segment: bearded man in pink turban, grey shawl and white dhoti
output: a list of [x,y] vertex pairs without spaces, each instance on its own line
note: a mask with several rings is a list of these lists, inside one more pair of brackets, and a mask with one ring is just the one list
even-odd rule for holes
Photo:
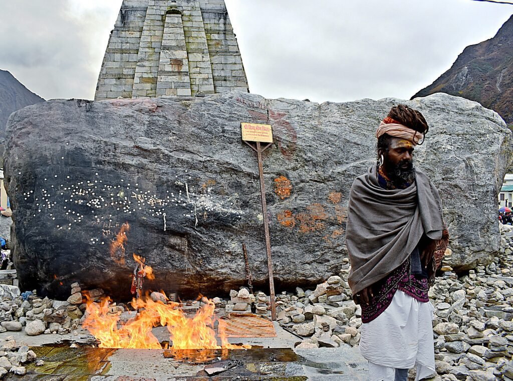
[[351,186],[349,285],[362,308],[360,351],[372,381],[406,381],[413,367],[416,380],[435,373],[427,292],[448,234],[437,188],[412,162],[428,130],[419,111],[392,107],[376,132],[378,163]]

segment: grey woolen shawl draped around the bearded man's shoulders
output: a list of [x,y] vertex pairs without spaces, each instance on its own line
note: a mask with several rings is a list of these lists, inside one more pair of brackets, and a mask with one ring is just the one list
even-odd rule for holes
[[443,229],[442,202],[426,175],[417,170],[408,188],[387,190],[371,166],[354,180],[349,196],[346,245],[353,295],[397,269],[424,233],[438,240]]

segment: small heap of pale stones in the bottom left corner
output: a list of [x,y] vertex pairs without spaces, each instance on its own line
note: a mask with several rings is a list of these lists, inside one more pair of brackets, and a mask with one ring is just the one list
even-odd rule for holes
[[0,378],[9,372],[23,376],[27,373],[24,365],[34,361],[36,366],[45,364],[43,360],[37,360],[36,354],[29,347],[16,344],[13,336],[6,337],[0,349]]

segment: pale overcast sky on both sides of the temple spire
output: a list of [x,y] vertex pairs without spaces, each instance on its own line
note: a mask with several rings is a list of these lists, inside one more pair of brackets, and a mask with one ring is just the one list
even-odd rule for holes
[[[93,99],[122,0],[0,0],[0,69],[45,99]],[[226,0],[250,91],[409,99],[513,6],[471,0]]]

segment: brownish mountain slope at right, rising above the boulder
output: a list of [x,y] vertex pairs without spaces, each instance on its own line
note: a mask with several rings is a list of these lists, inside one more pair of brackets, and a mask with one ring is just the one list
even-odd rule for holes
[[467,46],[449,70],[411,99],[435,92],[479,102],[512,126],[513,15],[493,38]]

